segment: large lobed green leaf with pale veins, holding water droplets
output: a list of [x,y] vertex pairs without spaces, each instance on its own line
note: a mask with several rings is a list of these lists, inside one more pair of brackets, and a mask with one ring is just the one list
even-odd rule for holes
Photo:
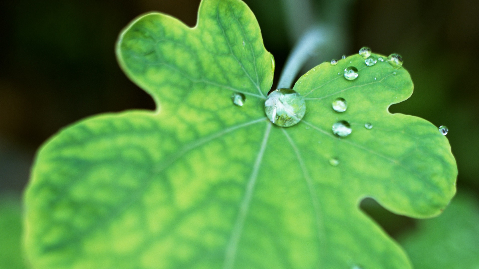
[[[365,67],[357,55],[321,64],[295,86],[304,120],[270,123],[274,60],[240,0],[203,0],[192,29],[143,15],[117,56],[158,109],[80,121],[40,149],[25,196],[34,268],[404,269],[404,252],[359,201],[428,217],[455,193],[447,139],[387,111],[412,93],[403,68]],[[337,75],[348,65],[359,78]],[[346,112],[331,109],[337,97]],[[353,133],[335,137],[337,120]]]

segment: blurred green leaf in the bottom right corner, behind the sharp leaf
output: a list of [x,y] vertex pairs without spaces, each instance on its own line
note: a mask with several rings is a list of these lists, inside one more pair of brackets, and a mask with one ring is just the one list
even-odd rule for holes
[[442,215],[419,221],[399,242],[415,269],[478,269],[479,202],[458,195]]

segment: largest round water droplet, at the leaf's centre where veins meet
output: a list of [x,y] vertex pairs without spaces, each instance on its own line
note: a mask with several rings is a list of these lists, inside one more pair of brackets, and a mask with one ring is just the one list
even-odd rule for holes
[[291,89],[278,89],[268,95],[264,102],[268,119],[281,127],[299,123],[306,112],[306,103],[301,94]]

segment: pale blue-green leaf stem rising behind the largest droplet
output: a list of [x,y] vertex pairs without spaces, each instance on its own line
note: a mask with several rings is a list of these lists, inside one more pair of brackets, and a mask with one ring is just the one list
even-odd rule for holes
[[297,42],[285,63],[278,82],[278,89],[291,88],[293,80],[319,46],[327,41],[325,29],[320,26],[310,28]]

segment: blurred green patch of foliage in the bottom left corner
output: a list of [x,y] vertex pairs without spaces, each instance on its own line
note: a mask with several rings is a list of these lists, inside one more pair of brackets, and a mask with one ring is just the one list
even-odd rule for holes
[[22,256],[20,197],[0,193],[0,269],[26,268]]

